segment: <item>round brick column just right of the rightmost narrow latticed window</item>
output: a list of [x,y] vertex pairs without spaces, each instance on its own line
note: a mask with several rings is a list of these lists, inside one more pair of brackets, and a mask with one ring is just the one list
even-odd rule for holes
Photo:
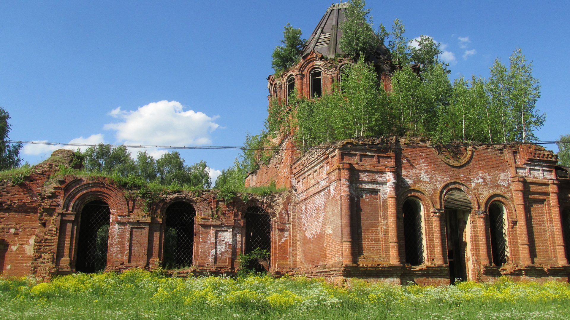
[[519,239],[519,264],[520,265],[531,265],[531,252],[530,243],[528,241],[528,229],[527,229],[527,214],[524,211],[524,178],[523,177],[511,177],[511,190],[512,196],[515,204],[516,218],[518,220],[516,224],[516,234]]

